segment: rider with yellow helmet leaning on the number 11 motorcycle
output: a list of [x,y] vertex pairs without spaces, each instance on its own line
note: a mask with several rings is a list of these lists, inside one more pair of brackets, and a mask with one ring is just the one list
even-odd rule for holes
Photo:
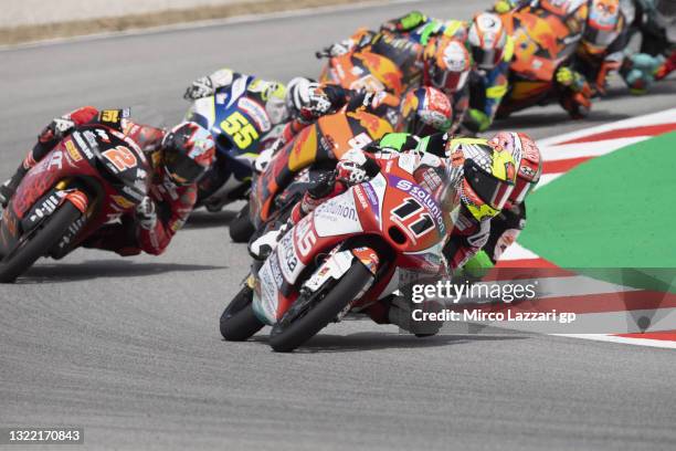
[[[367,153],[349,151],[335,172],[305,195],[289,222],[251,243],[252,256],[264,259],[276,247],[277,239],[317,206],[374,177],[391,162],[388,155],[392,151],[403,154],[400,165],[405,161],[406,170],[425,190],[447,189],[447,202],[457,208],[452,213],[454,229],[447,231],[440,258],[446,262],[447,275],[461,268],[487,242],[492,218],[500,212],[515,187],[516,169],[511,155],[495,141],[448,134],[422,139],[410,134],[390,134]],[[442,186],[444,179],[450,180],[450,186]],[[402,276],[399,282],[411,281]],[[402,296],[388,294],[367,313],[379,324],[397,324],[412,331],[414,325],[406,315],[408,307]]]

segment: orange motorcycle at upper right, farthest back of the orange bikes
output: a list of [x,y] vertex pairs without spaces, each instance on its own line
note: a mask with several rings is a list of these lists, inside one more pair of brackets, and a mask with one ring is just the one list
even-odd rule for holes
[[[559,98],[557,70],[573,56],[581,34],[571,36],[568,27],[558,18],[542,18],[528,10],[501,14],[501,20],[515,41],[509,91],[497,112],[498,118],[506,118],[511,113]],[[574,97],[579,105],[589,104],[591,88],[574,94]]]

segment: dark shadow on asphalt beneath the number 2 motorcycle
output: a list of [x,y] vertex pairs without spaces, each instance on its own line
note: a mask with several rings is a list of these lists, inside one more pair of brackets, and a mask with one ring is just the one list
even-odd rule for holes
[[93,279],[144,277],[171,272],[194,272],[223,270],[226,266],[180,263],[137,263],[130,260],[88,260],[74,264],[41,264],[33,266],[24,277],[17,281],[21,284],[63,283]]

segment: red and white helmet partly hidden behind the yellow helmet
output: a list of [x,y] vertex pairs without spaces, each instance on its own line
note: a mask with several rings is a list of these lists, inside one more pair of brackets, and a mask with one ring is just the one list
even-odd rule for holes
[[514,158],[517,177],[509,203],[519,204],[538,185],[542,175],[542,155],[535,140],[525,133],[500,132],[490,139],[493,146],[500,146]]

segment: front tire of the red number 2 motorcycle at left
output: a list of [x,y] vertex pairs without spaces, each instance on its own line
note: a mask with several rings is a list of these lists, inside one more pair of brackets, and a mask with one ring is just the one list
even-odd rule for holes
[[0,283],[13,283],[45,255],[81,216],[82,212],[73,203],[63,202],[19,250],[0,261]]

